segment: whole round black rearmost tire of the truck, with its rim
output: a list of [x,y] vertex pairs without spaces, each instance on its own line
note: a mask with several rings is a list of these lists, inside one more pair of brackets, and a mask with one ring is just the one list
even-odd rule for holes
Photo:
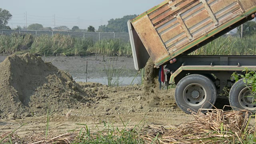
[[191,114],[188,108],[194,112],[198,112],[200,108],[212,108],[216,98],[216,86],[212,80],[200,74],[185,76],[175,89],[176,104],[187,114]]

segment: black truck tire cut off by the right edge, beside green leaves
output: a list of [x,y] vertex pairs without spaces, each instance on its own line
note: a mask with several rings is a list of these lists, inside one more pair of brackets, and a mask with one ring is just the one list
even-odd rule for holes
[[243,82],[244,79],[238,80],[230,89],[229,103],[234,110],[250,110],[255,112],[256,104],[252,103],[253,96],[251,96],[250,89]]

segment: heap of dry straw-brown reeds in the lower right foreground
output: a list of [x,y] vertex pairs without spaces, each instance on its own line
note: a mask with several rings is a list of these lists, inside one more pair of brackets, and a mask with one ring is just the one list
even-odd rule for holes
[[[147,143],[160,144],[226,144],[248,142],[251,139],[250,136],[254,136],[255,128],[249,123],[251,113],[247,110],[224,112],[212,109],[207,111],[205,115],[200,112],[192,114],[194,121],[175,128],[149,127],[155,132],[148,132],[143,138]],[[158,133],[161,134],[161,138],[156,140]]]

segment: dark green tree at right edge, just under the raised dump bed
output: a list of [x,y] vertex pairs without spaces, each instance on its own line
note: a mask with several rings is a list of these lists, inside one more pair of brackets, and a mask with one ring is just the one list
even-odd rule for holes
[[[238,26],[237,34],[241,34],[242,26]],[[251,36],[256,34],[256,22],[248,21],[243,24],[243,36]]]

